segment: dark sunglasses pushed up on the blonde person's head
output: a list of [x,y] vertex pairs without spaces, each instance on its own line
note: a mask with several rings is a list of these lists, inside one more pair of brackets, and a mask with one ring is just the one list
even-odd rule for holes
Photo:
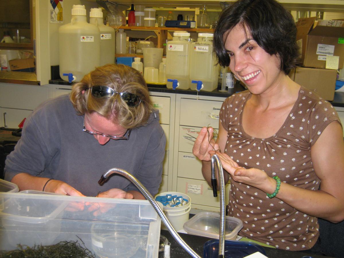
[[92,96],[96,98],[112,97],[115,94],[119,94],[121,99],[127,103],[129,107],[137,107],[141,103],[140,97],[136,94],[129,92],[115,92],[115,90],[107,86],[96,85],[87,89],[91,89]]

